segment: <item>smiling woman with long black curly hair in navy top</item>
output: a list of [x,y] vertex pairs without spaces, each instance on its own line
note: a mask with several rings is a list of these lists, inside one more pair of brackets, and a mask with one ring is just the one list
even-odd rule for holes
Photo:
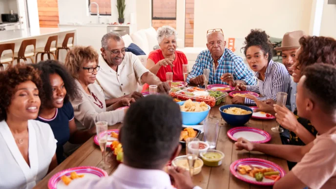
[[65,159],[63,145],[66,142],[82,144],[96,133],[95,128],[77,130],[71,100],[80,99],[77,85],[66,68],[53,60],[41,61],[34,65],[41,70],[44,97],[36,120],[50,125],[57,142],[58,164]]

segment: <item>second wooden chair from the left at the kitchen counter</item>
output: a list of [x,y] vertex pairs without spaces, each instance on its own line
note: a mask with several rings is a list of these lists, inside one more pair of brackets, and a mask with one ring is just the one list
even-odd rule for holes
[[[33,45],[34,46],[34,51],[28,51],[26,52],[26,47],[29,45]],[[29,58],[32,63],[34,62],[34,56],[35,56],[35,48],[36,48],[36,39],[30,39],[30,40],[23,40],[21,42],[21,46],[19,49],[19,52],[15,52],[14,53],[14,60],[17,60],[17,63],[20,63],[20,60],[23,59],[24,63],[27,62],[27,58]],[[6,57],[11,57],[12,54],[5,54]]]

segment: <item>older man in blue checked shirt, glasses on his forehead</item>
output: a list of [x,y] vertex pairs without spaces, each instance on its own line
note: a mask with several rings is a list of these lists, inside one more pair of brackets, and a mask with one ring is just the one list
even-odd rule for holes
[[229,84],[231,86],[235,86],[237,83],[256,84],[252,71],[249,70],[243,59],[230,49],[225,48],[225,45],[222,29],[208,30],[208,50],[204,50],[198,55],[187,78],[189,84],[204,85],[203,70],[206,68],[210,69],[208,84]]

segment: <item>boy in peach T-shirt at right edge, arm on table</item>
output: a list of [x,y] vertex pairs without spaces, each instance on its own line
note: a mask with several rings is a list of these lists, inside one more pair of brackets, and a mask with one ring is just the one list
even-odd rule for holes
[[[238,150],[260,151],[298,162],[273,189],[332,189],[336,186],[336,66],[316,63],[304,70],[297,85],[296,104],[300,117],[318,131],[306,146],[254,144],[239,138]],[[276,105],[275,105],[276,107]]]

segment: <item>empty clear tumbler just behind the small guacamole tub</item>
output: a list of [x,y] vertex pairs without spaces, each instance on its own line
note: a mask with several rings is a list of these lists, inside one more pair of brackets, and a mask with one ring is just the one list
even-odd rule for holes
[[206,119],[203,122],[204,140],[208,143],[210,149],[216,148],[219,131],[218,123],[218,120],[211,118]]

